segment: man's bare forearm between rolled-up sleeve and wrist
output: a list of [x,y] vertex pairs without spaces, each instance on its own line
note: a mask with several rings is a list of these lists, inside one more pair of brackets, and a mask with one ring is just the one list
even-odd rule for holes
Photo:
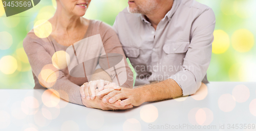
[[182,96],[180,86],[173,79],[144,85],[135,90],[141,94],[143,102],[161,101]]

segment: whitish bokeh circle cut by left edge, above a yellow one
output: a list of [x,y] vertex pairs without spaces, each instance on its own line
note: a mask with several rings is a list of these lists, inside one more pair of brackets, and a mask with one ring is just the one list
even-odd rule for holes
[[12,35],[6,31],[0,32],[0,50],[7,50],[12,46]]

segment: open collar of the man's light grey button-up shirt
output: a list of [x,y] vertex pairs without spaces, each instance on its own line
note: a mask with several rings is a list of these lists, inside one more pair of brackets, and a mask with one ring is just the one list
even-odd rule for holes
[[[167,17],[167,18],[168,18],[168,21],[170,21],[170,19],[172,18],[172,16],[173,16],[174,13],[176,12],[177,8],[179,7],[180,3],[181,3],[181,0],[174,0],[174,4],[173,4],[172,9],[170,9],[170,11],[168,11],[168,12],[166,13],[166,15],[164,16],[163,19],[165,19],[165,18]],[[144,23],[150,23],[150,22],[148,22],[148,21],[146,20],[145,15],[140,14],[140,18],[141,18],[141,20],[142,20]]]

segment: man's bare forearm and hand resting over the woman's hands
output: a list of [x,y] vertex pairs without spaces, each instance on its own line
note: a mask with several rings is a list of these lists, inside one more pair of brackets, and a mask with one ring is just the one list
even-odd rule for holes
[[107,104],[111,103],[111,105],[115,106],[113,103],[122,100],[120,101],[121,107],[127,104],[139,106],[143,102],[161,101],[180,96],[182,96],[180,86],[175,80],[167,79],[159,83],[143,85],[136,89],[122,88],[120,91],[113,90],[108,95],[105,95],[102,101]]

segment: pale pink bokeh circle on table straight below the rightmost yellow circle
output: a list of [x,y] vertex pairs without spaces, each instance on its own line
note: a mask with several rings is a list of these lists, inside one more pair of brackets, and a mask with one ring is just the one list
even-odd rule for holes
[[237,102],[241,103],[248,100],[250,97],[250,91],[244,84],[239,84],[234,87],[232,95]]

